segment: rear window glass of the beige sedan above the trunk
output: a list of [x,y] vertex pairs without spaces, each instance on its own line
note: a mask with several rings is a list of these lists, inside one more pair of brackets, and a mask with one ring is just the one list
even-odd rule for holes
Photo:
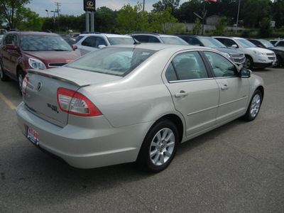
[[102,48],[70,62],[67,67],[125,76],[155,52],[138,48]]

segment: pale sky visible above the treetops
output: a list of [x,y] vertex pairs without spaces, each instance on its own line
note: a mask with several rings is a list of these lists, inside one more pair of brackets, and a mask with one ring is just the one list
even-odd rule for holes
[[[153,9],[152,5],[158,1],[159,0],[145,0],[145,10],[150,12]],[[181,0],[180,4],[185,1],[186,0]],[[84,0],[30,0],[30,2],[31,3],[27,4],[26,7],[30,8],[31,11],[38,13],[40,17],[47,17],[48,15],[53,16],[53,12],[50,11],[55,11],[55,9],[57,9],[55,2],[61,4],[61,6],[59,6],[60,14],[80,16],[85,13],[83,9]],[[109,9],[119,10],[124,4],[135,6],[137,2],[143,4],[143,0],[96,0],[96,8],[107,6]],[[48,10],[48,12],[45,10]]]

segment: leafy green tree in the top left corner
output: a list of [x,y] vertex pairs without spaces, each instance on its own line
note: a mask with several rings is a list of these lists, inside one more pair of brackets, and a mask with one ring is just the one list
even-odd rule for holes
[[22,22],[34,16],[24,7],[28,3],[29,0],[0,0],[1,21],[8,23],[10,28],[21,26]]

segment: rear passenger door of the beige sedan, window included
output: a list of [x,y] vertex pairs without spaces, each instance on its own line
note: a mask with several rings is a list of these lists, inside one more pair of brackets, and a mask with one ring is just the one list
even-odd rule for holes
[[199,133],[216,123],[219,87],[207,72],[198,51],[175,55],[165,72],[175,109],[185,119],[186,136]]

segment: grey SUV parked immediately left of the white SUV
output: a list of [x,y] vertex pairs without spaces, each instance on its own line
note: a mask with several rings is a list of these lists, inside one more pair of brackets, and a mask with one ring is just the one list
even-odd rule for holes
[[220,52],[224,53],[227,58],[231,59],[237,65],[239,65],[239,67],[243,67],[244,62],[246,61],[244,53],[238,50],[227,48],[224,44],[222,44],[215,38],[201,35],[178,35],[178,37],[182,38],[190,45],[203,46],[219,50]]

